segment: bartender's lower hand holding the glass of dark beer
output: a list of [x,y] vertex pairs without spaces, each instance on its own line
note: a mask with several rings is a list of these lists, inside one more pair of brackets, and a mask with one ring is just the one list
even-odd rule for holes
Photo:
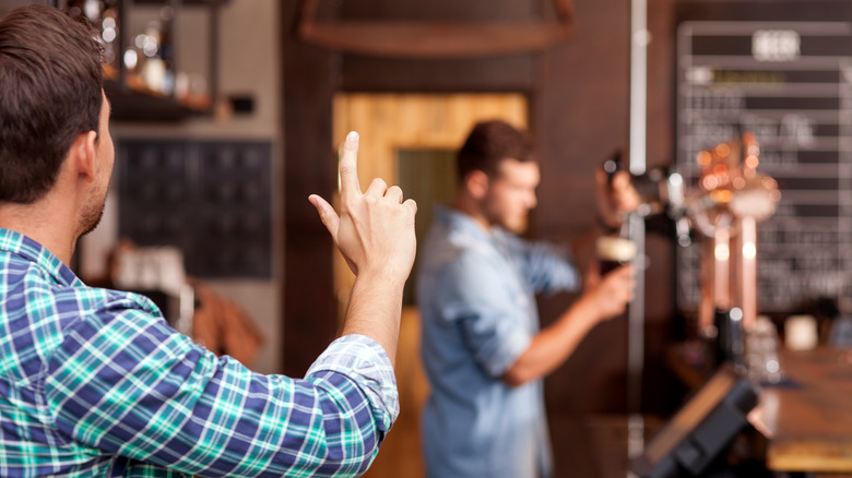
[[599,320],[620,315],[634,299],[632,265],[623,265],[601,277],[596,272],[587,274],[587,283],[580,301],[596,312]]

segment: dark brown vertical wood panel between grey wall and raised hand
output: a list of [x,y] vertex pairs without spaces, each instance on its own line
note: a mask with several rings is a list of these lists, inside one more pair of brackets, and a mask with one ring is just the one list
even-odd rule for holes
[[[336,158],[331,144],[334,55],[301,44],[292,27],[297,2],[281,4],[284,105],[284,373],[303,377],[334,338],[332,241],[308,202],[331,198]],[[289,28],[288,28],[289,26]]]

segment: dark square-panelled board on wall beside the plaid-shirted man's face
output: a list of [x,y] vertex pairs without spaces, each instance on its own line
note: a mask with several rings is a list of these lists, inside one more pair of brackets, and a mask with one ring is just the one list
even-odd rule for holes
[[118,158],[120,237],[176,246],[197,277],[271,277],[269,142],[126,140]]

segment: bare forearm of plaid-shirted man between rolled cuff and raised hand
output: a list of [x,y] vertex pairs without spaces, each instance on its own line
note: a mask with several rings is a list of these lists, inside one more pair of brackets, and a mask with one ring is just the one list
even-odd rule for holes
[[372,338],[384,348],[391,363],[395,365],[405,282],[391,277],[370,271],[358,275],[352,287],[342,334],[360,334]]

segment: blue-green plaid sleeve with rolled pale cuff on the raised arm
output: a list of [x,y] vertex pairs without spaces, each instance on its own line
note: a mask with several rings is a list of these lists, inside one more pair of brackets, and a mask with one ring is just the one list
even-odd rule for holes
[[210,477],[357,476],[398,414],[378,344],[343,337],[305,380],[253,373],[114,303],[48,360],[56,427],[106,453]]

